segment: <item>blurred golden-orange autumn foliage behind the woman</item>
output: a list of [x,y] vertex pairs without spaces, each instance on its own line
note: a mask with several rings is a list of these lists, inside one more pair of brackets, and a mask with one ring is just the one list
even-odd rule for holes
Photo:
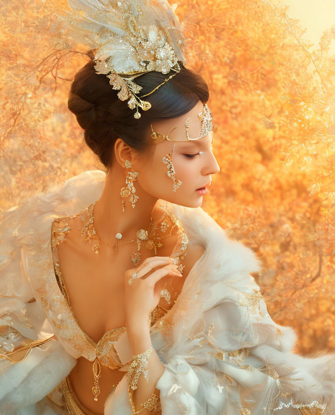
[[[54,33],[65,3],[1,6],[1,211],[102,168],[67,109],[89,58]],[[177,4],[221,169],[202,208],[261,258],[254,276],[271,317],[297,331],[296,352],[335,350],[335,26],[312,45],[283,3]]]

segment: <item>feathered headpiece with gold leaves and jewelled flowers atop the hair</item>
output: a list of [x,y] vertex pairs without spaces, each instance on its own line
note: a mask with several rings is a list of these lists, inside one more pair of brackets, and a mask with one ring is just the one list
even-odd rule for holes
[[67,0],[71,11],[57,13],[73,37],[91,47],[98,74],[110,79],[113,89],[120,89],[118,97],[129,100],[136,107],[135,118],[140,118],[151,103],[143,101],[142,90],[134,79],[146,72],[167,74],[174,71],[161,85],[180,72],[178,61],[185,64],[181,52],[184,42],[179,20],[167,0]]

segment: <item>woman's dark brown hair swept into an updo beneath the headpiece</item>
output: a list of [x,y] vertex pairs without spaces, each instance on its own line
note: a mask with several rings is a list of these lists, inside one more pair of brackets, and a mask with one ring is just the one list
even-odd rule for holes
[[[145,152],[153,144],[150,137],[150,123],[153,119],[185,114],[199,100],[205,104],[209,98],[204,79],[179,62],[179,73],[155,92],[142,98],[149,101],[152,107],[147,111],[139,107],[141,118],[136,119],[136,108],[132,110],[128,107],[129,99],[122,101],[118,97],[120,90],[113,89],[107,75],[96,73],[95,64],[91,60],[75,74],[68,108],[85,130],[86,144],[107,169],[112,165],[114,144],[118,137],[138,152]],[[172,73],[174,71],[167,74],[151,71],[135,78],[134,81],[143,88],[137,95],[151,92]]]

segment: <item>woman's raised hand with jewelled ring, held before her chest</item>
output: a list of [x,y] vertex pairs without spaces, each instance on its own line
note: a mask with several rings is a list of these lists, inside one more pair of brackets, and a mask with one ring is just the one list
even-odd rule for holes
[[[132,276],[135,272],[137,276],[134,279]],[[150,327],[150,313],[158,305],[163,287],[157,283],[167,275],[182,276],[169,256],[146,258],[137,268],[128,269],[125,272],[127,329],[139,328],[141,330],[144,324]],[[131,280],[132,285],[129,283]]]

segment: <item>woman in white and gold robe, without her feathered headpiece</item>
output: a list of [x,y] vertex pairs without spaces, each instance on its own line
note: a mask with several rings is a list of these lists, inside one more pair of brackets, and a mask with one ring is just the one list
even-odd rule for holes
[[147,71],[145,108],[95,63],[68,106],[105,171],[1,223],[0,413],[333,414],[334,356],[291,352],[258,258],[201,209],[219,172],[204,80]]

